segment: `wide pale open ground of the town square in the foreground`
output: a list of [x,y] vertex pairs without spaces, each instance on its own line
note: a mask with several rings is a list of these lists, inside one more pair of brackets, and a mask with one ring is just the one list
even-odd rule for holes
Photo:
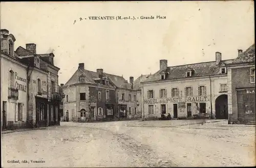
[[255,165],[255,126],[216,121],[62,122],[2,134],[2,167]]

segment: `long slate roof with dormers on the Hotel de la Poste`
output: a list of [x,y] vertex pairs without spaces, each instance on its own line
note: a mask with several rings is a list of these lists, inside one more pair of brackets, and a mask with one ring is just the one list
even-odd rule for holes
[[[195,70],[195,74],[192,77],[217,75],[217,74],[220,74],[220,66],[223,63],[229,64],[231,62],[232,60],[223,60],[220,62],[219,65],[216,65],[216,61],[212,61],[212,62],[167,67],[166,72],[168,73],[168,75],[166,76],[166,79],[186,78],[187,69]],[[158,80],[160,80],[160,70],[157,71],[155,74],[151,75],[150,77],[148,77],[145,80],[145,82],[158,81]]]

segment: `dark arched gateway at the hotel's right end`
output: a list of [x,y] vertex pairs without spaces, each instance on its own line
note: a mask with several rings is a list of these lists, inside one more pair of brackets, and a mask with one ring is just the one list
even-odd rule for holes
[[215,100],[216,119],[228,119],[227,95],[220,95]]

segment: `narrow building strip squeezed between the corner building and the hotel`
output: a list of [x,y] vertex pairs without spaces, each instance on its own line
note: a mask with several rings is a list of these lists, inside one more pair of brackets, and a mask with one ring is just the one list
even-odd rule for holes
[[134,90],[137,91],[137,113],[140,116],[139,118],[142,118],[142,97],[141,97],[141,89],[142,85],[141,82],[145,81],[151,74],[148,75],[142,75],[139,76],[135,81],[134,81]]

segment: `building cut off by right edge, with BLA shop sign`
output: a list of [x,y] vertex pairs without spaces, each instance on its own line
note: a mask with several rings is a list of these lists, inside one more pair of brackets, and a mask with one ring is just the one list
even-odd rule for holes
[[255,44],[227,65],[229,124],[255,124]]

